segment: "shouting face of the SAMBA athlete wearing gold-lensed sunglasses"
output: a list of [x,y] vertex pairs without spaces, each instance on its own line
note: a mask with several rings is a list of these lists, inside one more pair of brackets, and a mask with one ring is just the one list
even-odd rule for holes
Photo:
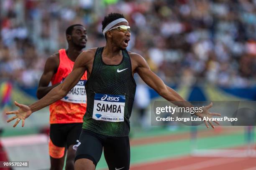
[[[119,24],[113,26],[113,28],[120,26],[120,25],[128,26],[128,23],[122,22],[122,23],[119,23]],[[126,47],[128,46],[128,42],[130,41],[130,37],[131,37],[130,30],[123,32],[120,29],[113,29],[113,30],[110,30],[110,32],[111,32],[111,36],[112,36],[114,45],[120,47],[120,49],[122,49],[122,50],[125,50]]]

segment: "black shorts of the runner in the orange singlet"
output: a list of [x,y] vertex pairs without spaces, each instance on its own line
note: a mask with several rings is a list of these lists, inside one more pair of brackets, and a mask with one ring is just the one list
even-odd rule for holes
[[63,123],[50,125],[50,139],[57,147],[69,148],[77,144],[82,130],[82,123]]

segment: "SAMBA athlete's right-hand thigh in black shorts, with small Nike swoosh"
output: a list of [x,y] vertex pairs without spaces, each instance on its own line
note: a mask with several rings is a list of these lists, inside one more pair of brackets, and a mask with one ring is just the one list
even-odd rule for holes
[[128,137],[109,137],[104,144],[105,160],[110,170],[130,168],[130,142]]

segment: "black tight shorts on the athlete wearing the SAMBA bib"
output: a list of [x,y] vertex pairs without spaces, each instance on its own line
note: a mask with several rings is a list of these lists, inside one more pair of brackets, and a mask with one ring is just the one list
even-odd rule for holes
[[105,160],[110,170],[128,170],[130,168],[129,137],[112,137],[100,135],[90,130],[82,129],[75,161],[82,158],[92,160],[95,167],[104,149]]

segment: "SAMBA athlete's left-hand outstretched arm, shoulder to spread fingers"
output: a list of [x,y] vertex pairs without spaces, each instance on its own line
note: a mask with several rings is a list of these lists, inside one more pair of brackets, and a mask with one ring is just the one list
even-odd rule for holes
[[29,106],[22,105],[15,102],[15,105],[17,105],[20,108],[19,110],[10,111],[6,113],[7,115],[15,114],[15,116],[7,120],[7,122],[10,122],[18,118],[15,124],[13,125],[13,127],[15,127],[20,120],[22,120],[22,126],[24,126],[25,119],[28,116],[30,116],[33,112],[40,110],[50,105],[51,103],[54,103],[57,100],[60,100],[61,98],[66,96],[69,90],[71,90],[77,84],[77,82],[81,79],[85,70],[87,70],[87,63],[89,63],[90,60],[92,59],[92,57],[89,56],[90,54],[91,53],[87,55],[87,51],[82,52],[77,57],[77,60],[74,63],[72,72],[67,76],[67,78],[63,81],[63,83],[54,87],[49,93],[47,93],[47,95],[45,95],[43,98],[41,98],[37,102]]

